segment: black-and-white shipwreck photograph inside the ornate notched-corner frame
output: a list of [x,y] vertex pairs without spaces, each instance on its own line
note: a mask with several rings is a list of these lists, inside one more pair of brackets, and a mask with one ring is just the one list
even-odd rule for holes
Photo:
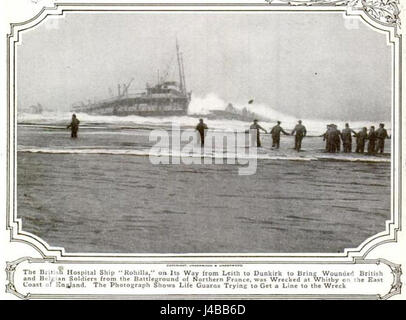
[[49,15],[15,47],[16,216],[68,253],[340,253],[391,212],[387,32],[314,11]]

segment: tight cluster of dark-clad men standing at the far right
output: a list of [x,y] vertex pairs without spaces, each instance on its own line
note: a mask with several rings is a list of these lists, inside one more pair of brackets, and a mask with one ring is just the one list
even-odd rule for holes
[[340,151],[341,142],[345,153],[352,152],[352,137],[356,138],[355,152],[364,153],[368,141],[368,154],[383,153],[385,139],[390,138],[383,123],[379,124],[377,130],[375,130],[375,126],[371,126],[369,132],[366,127],[363,127],[359,132],[355,132],[348,123],[345,124],[345,128],[341,131],[338,130],[335,124],[329,124],[327,125],[327,131],[321,137],[323,137],[323,141],[326,141],[326,151],[331,153]]

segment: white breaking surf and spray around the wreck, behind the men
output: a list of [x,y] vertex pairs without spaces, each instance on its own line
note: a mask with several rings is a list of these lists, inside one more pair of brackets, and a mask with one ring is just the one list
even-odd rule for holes
[[[78,118],[81,120],[82,127],[106,127],[106,128],[157,128],[157,127],[170,127],[173,123],[182,127],[194,127],[198,118],[209,114],[210,110],[224,110],[229,102],[224,101],[215,94],[208,94],[206,96],[192,96],[189,105],[188,115],[185,116],[169,116],[169,117],[142,117],[142,116],[99,116],[88,115],[86,113],[77,113]],[[252,104],[239,103],[230,101],[233,106],[242,110],[244,107],[255,114],[269,119],[269,121],[262,121],[261,125],[265,129],[270,129],[275,125],[277,120],[282,122],[282,127],[285,130],[292,130],[297,123],[297,118],[292,115],[284,114],[277,111],[265,104],[256,103]],[[35,124],[35,125],[59,125],[66,126],[69,123],[72,113],[71,112],[45,112],[42,114],[29,114],[18,112],[17,122],[19,124]],[[371,123],[370,121],[354,121],[351,122],[343,120],[319,120],[319,119],[301,119],[303,124],[308,129],[310,135],[320,135],[325,131],[326,124],[335,123],[339,128],[343,128],[346,122],[354,130],[360,130],[362,127],[370,127],[371,125],[377,126],[379,122]],[[250,123],[240,120],[227,120],[227,119],[210,119],[206,120],[209,128],[212,129],[232,129],[232,130],[246,130]],[[384,122],[388,132],[390,133],[390,122]]]

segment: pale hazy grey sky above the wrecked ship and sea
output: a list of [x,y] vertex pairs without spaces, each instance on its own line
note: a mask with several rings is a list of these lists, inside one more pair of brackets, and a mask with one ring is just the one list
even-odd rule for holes
[[[347,24],[348,25],[348,24]],[[353,24],[351,24],[353,26]],[[168,66],[178,80],[175,41],[188,90],[227,102],[252,98],[301,117],[389,120],[391,52],[384,34],[341,13],[68,13],[22,33],[20,107],[69,109],[106,98],[135,78],[154,83]],[[168,79],[170,80],[170,79]]]

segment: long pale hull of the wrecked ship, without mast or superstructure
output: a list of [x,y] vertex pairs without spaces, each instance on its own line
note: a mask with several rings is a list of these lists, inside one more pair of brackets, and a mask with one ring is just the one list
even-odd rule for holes
[[186,97],[159,99],[138,97],[76,107],[73,111],[109,116],[175,116],[187,114],[189,103],[190,100]]

